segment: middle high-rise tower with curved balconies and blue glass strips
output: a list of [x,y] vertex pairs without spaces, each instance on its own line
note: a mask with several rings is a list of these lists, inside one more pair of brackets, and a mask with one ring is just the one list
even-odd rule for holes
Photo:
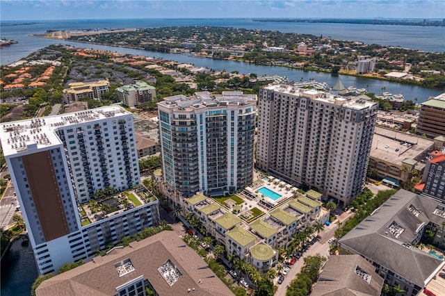
[[197,92],[159,102],[165,186],[187,197],[252,183],[256,97]]

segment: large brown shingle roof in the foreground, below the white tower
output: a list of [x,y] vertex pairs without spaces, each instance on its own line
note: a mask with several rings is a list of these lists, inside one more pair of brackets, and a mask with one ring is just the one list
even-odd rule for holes
[[[135,270],[119,277],[115,263],[127,258]],[[168,259],[182,274],[172,286],[157,270]],[[115,249],[106,256],[95,257],[78,268],[43,281],[36,293],[38,296],[115,295],[116,287],[141,275],[159,295],[190,295],[188,288],[195,288],[193,295],[233,295],[174,231],[162,231],[140,242],[132,242],[124,249]]]

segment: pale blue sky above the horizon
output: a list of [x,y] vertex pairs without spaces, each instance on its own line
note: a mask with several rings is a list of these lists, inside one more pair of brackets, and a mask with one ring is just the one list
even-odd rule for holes
[[445,18],[445,0],[0,0],[0,20],[192,17]]

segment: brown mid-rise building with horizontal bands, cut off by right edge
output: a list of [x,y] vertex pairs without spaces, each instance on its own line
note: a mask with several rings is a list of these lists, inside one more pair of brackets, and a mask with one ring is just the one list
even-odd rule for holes
[[421,104],[416,133],[431,138],[445,135],[445,92]]

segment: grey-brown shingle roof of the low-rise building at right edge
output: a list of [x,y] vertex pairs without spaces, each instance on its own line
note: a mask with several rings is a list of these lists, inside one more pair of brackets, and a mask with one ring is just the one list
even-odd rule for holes
[[[408,209],[410,205],[421,211],[418,217]],[[403,243],[414,240],[416,230],[422,223],[432,221],[442,224],[445,221],[432,213],[437,205],[439,202],[434,199],[398,190],[379,210],[341,238],[341,246],[370,258],[418,286],[424,286],[442,261],[416,247],[404,247]],[[398,237],[388,229],[392,222],[404,229]]]

